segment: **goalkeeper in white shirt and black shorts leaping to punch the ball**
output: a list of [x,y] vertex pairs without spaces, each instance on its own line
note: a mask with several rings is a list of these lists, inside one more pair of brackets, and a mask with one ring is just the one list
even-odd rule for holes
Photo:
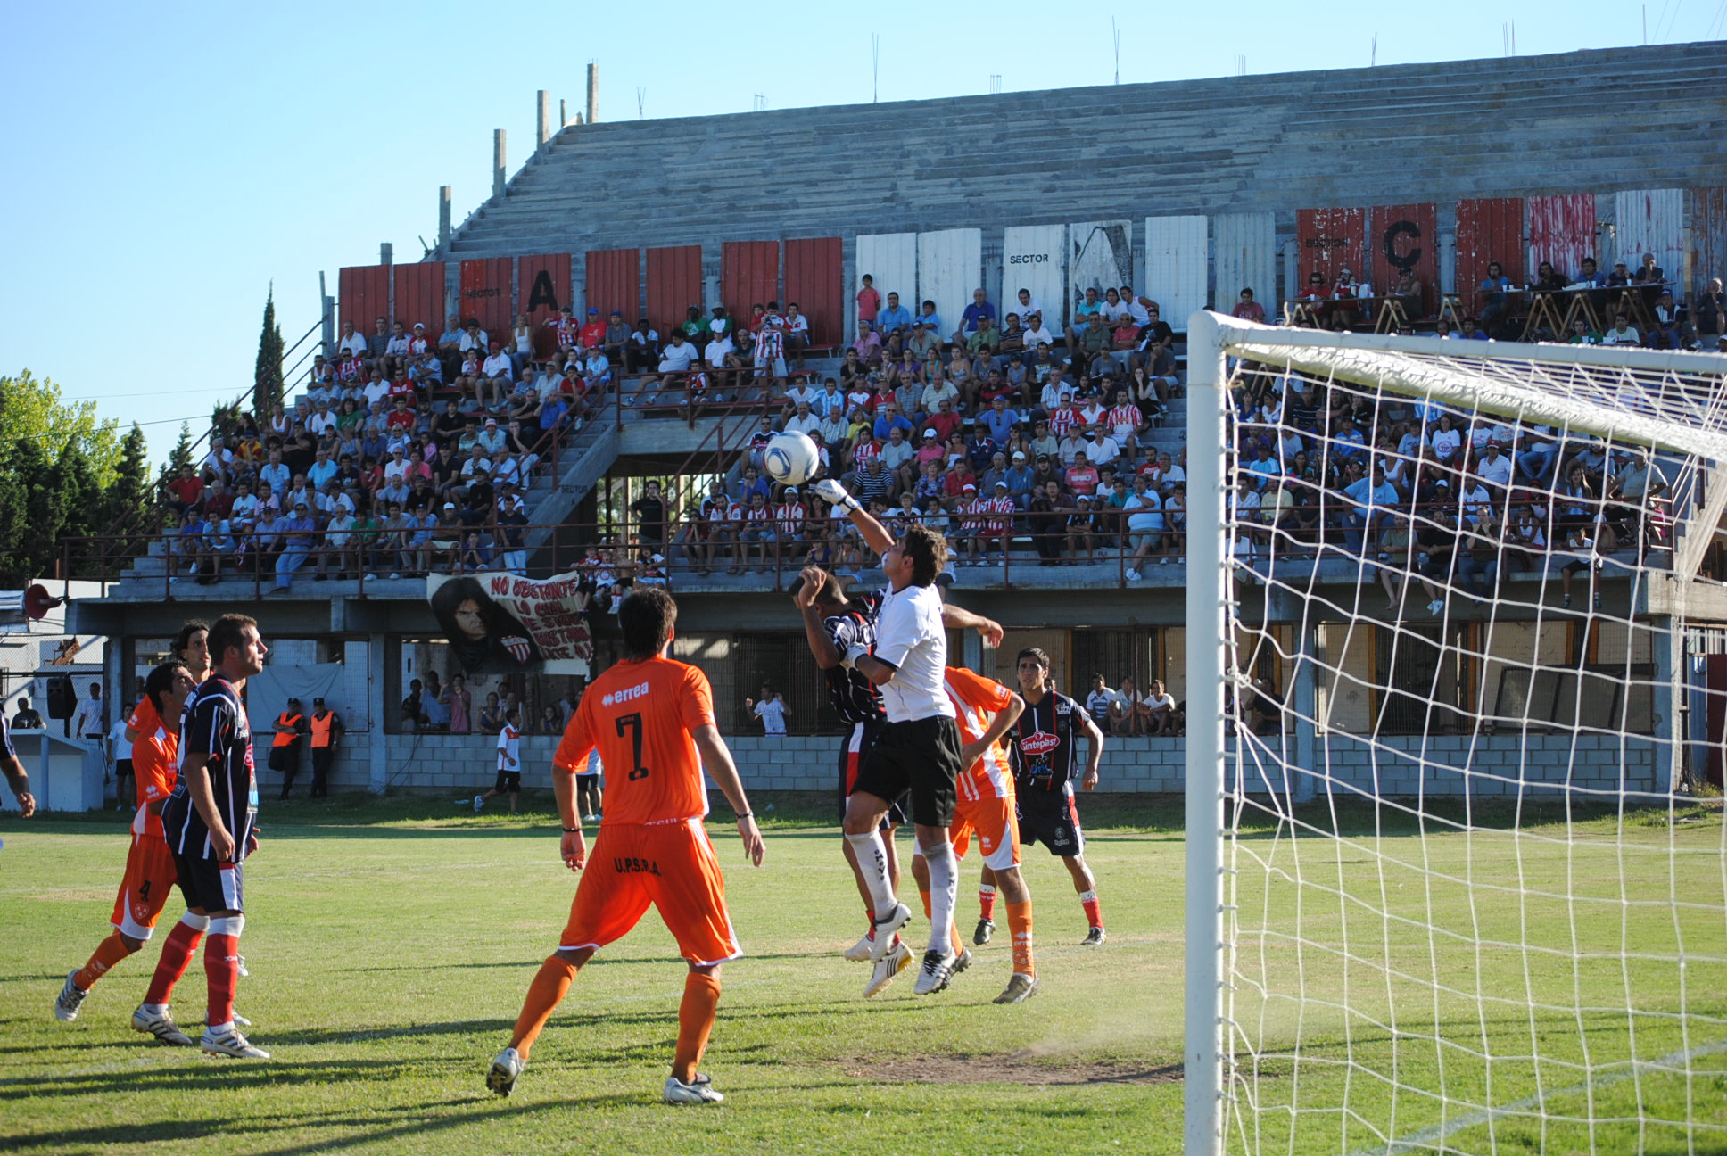
[[914,992],[939,992],[953,978],[960,954],[950,942],[953,900],[958,895],[958,871],[948,826],[953,823],[955,781],[962,767],[960,733],[953,721],[953,703],[943,688],[948,665],[948,634],[941,626],[941,594],[936,575],[946,565],[948,543],[920,522],[907,527],[905,537],[893,541],[857,498],[831,479],[817,482],[815,494],[845,506],[851,524],[867,543],[889,543],[881,556],[888,575],[876,624],[876,648],[862,643],[846,650],[845,662],[881,688],[888,722],[858,769],[851,798],[846,802],[846,842],[857,855],[858,869],[874,900],[876,942],[870,957],[876,975],[869,990],[877,988],[884,969],[905,968],[896,950],[896,931],[912,918],[912,909],[895,895],[888,873],[888,848],[877,828],[889,803],[907,788],[912,791],[912,823],[917,847],[929,866],[931,926],[924,962]]

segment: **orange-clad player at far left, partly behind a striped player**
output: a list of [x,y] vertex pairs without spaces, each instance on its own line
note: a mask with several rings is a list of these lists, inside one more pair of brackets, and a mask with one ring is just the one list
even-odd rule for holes
[[[114,931],[97,945],[90,961],[66,976],[66,987],[54,1000],[54,1016],[60,1021],[78,1018],[78,1009],[107,971],[126,956],[145,945],[155,931],[155,919],[162,914],[162,905],[174,890],[174,857],[168,852],[162,836],[162,800],[174,790],[178,778],[174,764],[180,755],[180,708],[187,695],[193,689],[192,674],[178,662],[164,662],[150,670],[143,683],[140,710],[149,707],[149,715],[155,721],[149,729],[140,714],[133,712],[128,729],[138,729],[138,738],[131,746],[133,771],[138,776],[138,812],[131,821],[131,848],[126,852],[126,876],[121,880],[119,895],[114,899]],[[192,1044],[192,1040],[174,1026],[166,1007],[161,1016],[147,1016],[140,1023],[133,1016],[133,1026],[140,1032],[168,1044]]]

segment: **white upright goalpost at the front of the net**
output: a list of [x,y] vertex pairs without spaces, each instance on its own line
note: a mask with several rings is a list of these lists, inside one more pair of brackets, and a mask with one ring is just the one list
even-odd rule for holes
[[1218,318],[1188,320],[1186,1013],[1183,1153],[1223,1153],[1228,373]]

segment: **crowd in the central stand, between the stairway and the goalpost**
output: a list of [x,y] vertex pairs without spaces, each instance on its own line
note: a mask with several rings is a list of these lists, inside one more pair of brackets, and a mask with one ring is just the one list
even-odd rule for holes
[[765,410],[741,468],[713,479],[680,518],[651,496],[639,518],[648,558],[694,574],[867,565],[843,511],[762,473],[762,451],[782,430],[810,435],[824,473],[886,524],[943,530],[957,565],[998,562],[1021,537],[1038,565],[1117,549],[1136,567],[1178,555],[1181,454],[1159,453],[1154,430],[1181,375],[1155,301],[1128,285],[1088,292],[1055,333],[1028,290],[1002,316],[979,289],[950,330],[933,301],[912,313],[862,280],[858,339],[832,373],[796,372],[807,325],[796,306],[763,302],[737,323],[724,309],[708,321],[691,309],[694,335],[672,335],[687,363],[668,366],[661,349],[656,368],[623,387],[625,399],[684,413],[755,389],[751,404]]

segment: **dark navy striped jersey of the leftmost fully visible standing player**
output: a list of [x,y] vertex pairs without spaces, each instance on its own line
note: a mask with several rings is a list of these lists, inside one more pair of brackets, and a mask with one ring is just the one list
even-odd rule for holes
[[226,679],[211,676],[187,702],[180,724],[180,781],[162,807],[168,845],[181,855],[209,859],[209,828],[192,802],[187,759],[209,755],[216,814],[235,842],[235,862],[245,859],[247,836],[257,821],[257,774],[252,767],[252,726],[240,695]]

